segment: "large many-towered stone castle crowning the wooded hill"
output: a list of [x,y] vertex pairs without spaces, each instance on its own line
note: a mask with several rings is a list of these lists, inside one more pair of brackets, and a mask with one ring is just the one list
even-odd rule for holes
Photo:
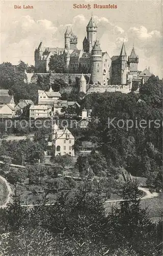
[[77,36],[69,27],[65,32],[64,48],[44,48],[40,42],[35,50],[35,73],[48,73],[50,57],[56,54],[63,57],[68,74],[91,74],[90,84],[123,86],[131,83],[132,79],[137,79],[139,57],[135,54],[134,47],[127,59],[123,42],[120,55],[110,58],[108,53],[102,52],[100,48],[97,25],[93,17],[86,30],[87,37],[83,40],[83,50],[77,49]]

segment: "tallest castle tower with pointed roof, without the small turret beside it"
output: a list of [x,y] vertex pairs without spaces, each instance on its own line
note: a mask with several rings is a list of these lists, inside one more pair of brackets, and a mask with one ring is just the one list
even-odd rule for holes
[[89,42],[91,40],[91,44],[93,47],[96,39],[97,39],[97,26],[93,20],[93,17],[91,17],[91,19],[87,25],[87,41]]

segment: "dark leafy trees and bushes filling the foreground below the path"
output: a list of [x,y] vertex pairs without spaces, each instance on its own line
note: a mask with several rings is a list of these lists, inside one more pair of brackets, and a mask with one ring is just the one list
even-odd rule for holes
[[0,215],[0,252],[6,256],[161,255],[162,223],[151,223],[138,200],[137,184],[127,183],[124,201],[106,215],[98,183],[85,183],[55,205],[21,207],[19,197]]

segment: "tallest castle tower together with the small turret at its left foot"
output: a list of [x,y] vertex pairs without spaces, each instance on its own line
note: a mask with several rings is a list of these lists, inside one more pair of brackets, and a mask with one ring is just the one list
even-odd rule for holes
[[93,20],[93,17],[91,17],[87,25],[87,38],[85,37],[83,41],[83,50],[85,52],[91,52],[96,39],[97,39],[97,26]]

